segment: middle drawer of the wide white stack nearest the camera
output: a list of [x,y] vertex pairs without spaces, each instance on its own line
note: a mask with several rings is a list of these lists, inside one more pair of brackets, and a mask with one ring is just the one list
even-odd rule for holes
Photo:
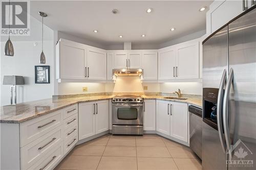
[[56,143],[59,143],[60,140],[61,129],[58,127],[21,148],[22,167],[34,164],[41,155],[50,152],[54,145],[56,147]]

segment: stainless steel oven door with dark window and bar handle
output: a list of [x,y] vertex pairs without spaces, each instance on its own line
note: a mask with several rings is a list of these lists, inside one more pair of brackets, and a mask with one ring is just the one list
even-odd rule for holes
[[113,103],[113,125],[143,125],[143,104]]

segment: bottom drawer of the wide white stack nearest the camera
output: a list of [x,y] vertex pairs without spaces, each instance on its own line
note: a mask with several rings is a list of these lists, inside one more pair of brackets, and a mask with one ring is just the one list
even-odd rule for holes
[[26,168],[26,169],[38,169],[38,170],[53,169],[53,167],[60,161],[62,156],[63,156],[63,143],[61,141],[58,143],[58,145],[51,148],[51,152],[40,157],[40,159],[38,159],[37,162],[35,162],[34,164],[31,164],[31,166],[29,166],[29,168]]

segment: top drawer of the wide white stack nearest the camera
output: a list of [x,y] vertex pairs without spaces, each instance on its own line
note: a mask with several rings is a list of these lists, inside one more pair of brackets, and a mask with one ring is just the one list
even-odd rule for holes
[[20,124],[20,148],[61,125],[61,111]]

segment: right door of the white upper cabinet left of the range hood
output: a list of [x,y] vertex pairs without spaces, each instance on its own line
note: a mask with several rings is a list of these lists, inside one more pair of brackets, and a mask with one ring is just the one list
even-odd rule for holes
[[99,50],[88,50],[87,79],[106,80],[106,53]]

